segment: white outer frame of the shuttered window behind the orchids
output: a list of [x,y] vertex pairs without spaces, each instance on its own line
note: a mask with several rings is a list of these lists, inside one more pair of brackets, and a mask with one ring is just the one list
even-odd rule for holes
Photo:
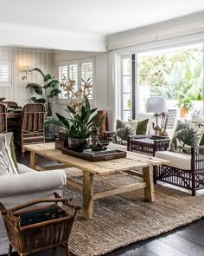
[[[82,81],[81,81],[81,65],[83,63],[87,63],[87,62],[92,62],[92,69],[93,69],[92,70],[92,99],[89,99],[89,102],[90,102],[91,105],[95,105],[95,90],[96,90],[95,72],[96,72],[96,65],[95,65],[95,58],[94,57],[77,59],[77,60],[72,60],[72,61],[67,61],[67,62],[59,62],[58,70],[60,69],[61,66],[67,66],[68,67],[69,65],[74,65],[74,64],[79,65],[79,69],[78,69],[79,70],[79,72],[78,72],[78,88],[80,88],[80,86],[82,84]],[[67,97],[63,97],[63,96],[58,95],[58,103],[67,104],[68,102],[69,102],[69,99]]]

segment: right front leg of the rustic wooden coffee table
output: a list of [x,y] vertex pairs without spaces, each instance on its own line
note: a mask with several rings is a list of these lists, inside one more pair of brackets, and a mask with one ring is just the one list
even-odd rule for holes
[[152,167],[143,167],[143,181],[147,182],[147,187],[144,188],[145,200],[154,202],[155,192],[152,179]]

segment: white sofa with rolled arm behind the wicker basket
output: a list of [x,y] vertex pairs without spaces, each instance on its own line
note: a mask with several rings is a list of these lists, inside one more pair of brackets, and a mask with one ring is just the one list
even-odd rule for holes
[[[30,200],[53,198],[54,192],[61,194],[67,177],[62,170],[37,172],[18,164],[16,175],[0,176],[0,202],[11,208]],[[8,253],[8,236],[0,214],[0,255]]]

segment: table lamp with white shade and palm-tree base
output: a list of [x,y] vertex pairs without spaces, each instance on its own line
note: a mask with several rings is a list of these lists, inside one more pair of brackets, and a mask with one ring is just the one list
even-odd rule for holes
[[155,135],[159,135],[162,128],[158,125],[158,117],[164,116],[167,112],[167,101],[165,97],[150,97],[147,100],[147,112],[155,113],[156,125],[153,124],[153,129],[155,130]]

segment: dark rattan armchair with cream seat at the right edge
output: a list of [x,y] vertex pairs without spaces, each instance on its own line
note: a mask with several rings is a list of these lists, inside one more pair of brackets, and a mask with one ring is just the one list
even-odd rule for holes
[[169,160],[169,165],[156,167],[156,181],[183,187],[196,195],[196,191],[204,188],[204,146],[191,148],[191,154],[175,152],[156,152],[156,157]]

